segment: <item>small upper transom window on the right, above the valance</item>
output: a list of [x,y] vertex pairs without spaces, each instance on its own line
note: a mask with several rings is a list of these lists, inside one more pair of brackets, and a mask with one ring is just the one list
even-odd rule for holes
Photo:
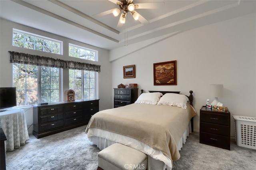
[[98,61],[98,51],[69,44],[69,56],[92,61]]

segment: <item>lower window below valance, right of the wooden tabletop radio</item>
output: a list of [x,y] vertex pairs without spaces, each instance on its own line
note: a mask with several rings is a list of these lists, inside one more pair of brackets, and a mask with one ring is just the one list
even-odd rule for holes
[[96,74],[94,71],[69,70],[69,88],[75,91],[75,99],[96,99]]

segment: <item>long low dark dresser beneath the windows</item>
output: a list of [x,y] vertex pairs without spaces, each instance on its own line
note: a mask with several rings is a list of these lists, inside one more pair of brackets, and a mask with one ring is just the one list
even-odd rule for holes
[[42,138],[87,125],[98,111],[98,99],[33,105],[33,135]]

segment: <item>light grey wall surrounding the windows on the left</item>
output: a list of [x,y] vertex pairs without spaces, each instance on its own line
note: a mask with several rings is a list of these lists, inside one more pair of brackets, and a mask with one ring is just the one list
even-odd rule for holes
[[[12,87],[12,63],[10,63],[10,53],[8,51],[17,51],[22,53],[30,53],[32,55],[41,55],[45,57],[59,58],[64,60],[74,60],[79,62],[84,62],[83,59],[68,57],[68,43],[73,43],[76,45],[80,45],[83,47],[88,47],[90,49],[98,50],[98,62],[96,61],[86,61],[87,63],[101,65],[101,72],[98,74],[99,80],[99,94],[98,99],[100,99],[100,110],[110,109],[112,106],[109,97],[112,95],[111,89],[111,63],[109,61],[109,51],[106,49],[101,49],[98,47],[94,47],[88,44],[84,44],[81,42],[76,42],[74,40],[70,40],[68,38],[57,36],[54,34],[50,34],[47,32],[43,32],[41,30],[36,30],[34,28],[30,28],[27,26],[23,26],[20,24],[16,24],[14,22],[10,22],[8,20],[0,19],[0,87]],[[20,47],[12,46],[12,28],[16,28],[18,30],[23,30],[26,32],[38,34],[41,36],[53,38],[56,40],[63,41],[63,55],[57,55],[52,53],[45,53],[42,51],[35,51],[31,49],[24,49]],[[68,70],[64,69],[64,91],[68,89]],[[31,108],[25,108],[27,125],[32,125],[33,123],[33,114]],[[33,126],[28,129],[29,133],[32,133]]]

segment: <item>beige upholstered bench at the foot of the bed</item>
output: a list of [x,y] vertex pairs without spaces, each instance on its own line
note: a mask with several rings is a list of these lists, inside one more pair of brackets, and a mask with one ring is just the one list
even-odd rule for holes
[[98,170],[146,170],[147,163],[146,154],[119,143],[98,153]]

